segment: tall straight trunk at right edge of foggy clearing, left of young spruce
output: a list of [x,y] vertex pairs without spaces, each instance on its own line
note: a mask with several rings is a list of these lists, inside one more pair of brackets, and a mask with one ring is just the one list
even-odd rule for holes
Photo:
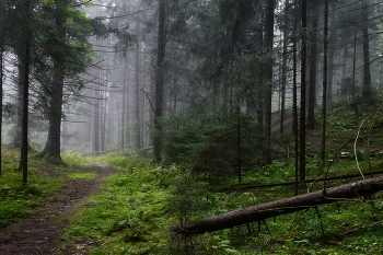
[[161,162],[162,151],[162,125],[160,118],[163,115],[164,104],[164,60],[165,60],[165,0],[159,0],[159,27],[158,27],[158,47],[155,65],[155,108],[154,108],[154,137],[153,137],[153,157],[155,162]]

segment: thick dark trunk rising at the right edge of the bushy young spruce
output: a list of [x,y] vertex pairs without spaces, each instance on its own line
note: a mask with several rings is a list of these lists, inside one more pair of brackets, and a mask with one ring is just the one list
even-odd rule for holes
[[266,9],[266,25],[265,25],[265,49],[266,62],[264,67],[264,113],[265,113],[265,137],[266,151],[265,163],[271,163],[271,103],[272,103],[272,44],[274,44],[274,10],[276,7],[275,0],[267,1]]

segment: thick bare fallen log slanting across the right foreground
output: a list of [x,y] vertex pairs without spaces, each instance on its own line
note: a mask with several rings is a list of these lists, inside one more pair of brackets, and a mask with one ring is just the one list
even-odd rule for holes
[[383,177],[374,177],[345,184],[325,190],[309,193],[300,196],[289,197],[277,201],[265,202],[244,209],[225,212],[218,216],[186,221],[182,224],[174,224],[170,230],[183,235],[204,234],[247,224],[260,222],[267,218],[287,215],[312,207],[355,198],[358,196],[368,197],[383,190]]

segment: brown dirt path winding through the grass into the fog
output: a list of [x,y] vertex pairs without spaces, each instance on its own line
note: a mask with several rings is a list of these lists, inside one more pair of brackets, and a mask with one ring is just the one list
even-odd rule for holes
[[116,172],[113,167],[91,166],[83,172],[95,172],[95,179],[74,179],[68,182],[58,193],[57,199],[46,205],[35,215],[0,231],[1,255],[47,255],[58,254],[66,244],[78,246],[78,253],[85,254],[86,244],[60,241],[63,228],[68,224],[71,211],[86,198],[97,192],[104,177]]

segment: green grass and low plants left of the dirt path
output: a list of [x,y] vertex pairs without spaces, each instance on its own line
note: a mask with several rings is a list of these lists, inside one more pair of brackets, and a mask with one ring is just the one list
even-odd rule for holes
[[18,151],[3,149],[0,177],[0,229],[20,218],[33,213],[45,202],[53,201],[68,178],[94,178],[93,173],[82,173],[80,166],[89,165],[86,159],[63,154],[66,165],[48,165],[30,158],[28,185],[22,186],[22,173],[18,171]]

